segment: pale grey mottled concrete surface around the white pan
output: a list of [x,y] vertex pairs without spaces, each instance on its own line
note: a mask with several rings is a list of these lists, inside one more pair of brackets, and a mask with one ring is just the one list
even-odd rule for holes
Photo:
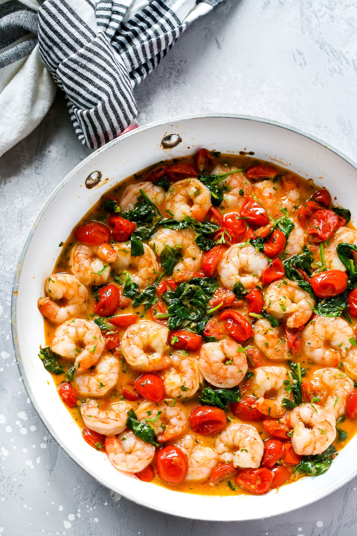
[[[356,160],[356,31],[352,0],[225,0],[192,25],[137,88],[138,120],[200,111],[259,115],[311,132]],[[6,110],[0,113],[2,121],[11,121]],[[357,479],[283,516],[195,522],[113,494],[51,438],[19,378],[10,333],[11,286],[37,211],[87,154],[58,94],[42,124],[0,161],[1,536],[356,534]]]

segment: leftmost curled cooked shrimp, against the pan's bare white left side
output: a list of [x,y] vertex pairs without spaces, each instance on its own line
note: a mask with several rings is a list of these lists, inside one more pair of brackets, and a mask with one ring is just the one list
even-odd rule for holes
[[52,273],[45,280],[44,292],[47,297],[40,298],[37,307],[54,324],[80,316],[88,298],[86,287],[69,273]]

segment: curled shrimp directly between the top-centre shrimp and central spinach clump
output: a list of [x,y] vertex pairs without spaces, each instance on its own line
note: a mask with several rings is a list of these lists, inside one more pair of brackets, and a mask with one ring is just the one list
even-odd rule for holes
[[174,267],[174,272],[199,272],[203,252],[195,242],[195,233],[192,229],[174,230],[162,227],[151,238],[149,245],[154,248],[156,255],[160,256],[165,245],[177,249],[182,259]]

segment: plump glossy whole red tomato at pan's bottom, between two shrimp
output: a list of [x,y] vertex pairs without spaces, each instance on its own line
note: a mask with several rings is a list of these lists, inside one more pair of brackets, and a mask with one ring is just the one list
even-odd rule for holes
[[182,482],[188,471],[186,454],[176,445],[164,446],[157,451],[156,471],[158,477],[165,482]]

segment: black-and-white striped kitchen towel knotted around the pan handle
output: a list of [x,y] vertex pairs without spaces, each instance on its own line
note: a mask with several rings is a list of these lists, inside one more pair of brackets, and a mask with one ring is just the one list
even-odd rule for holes
[[0,0],[0,109],[9,117],[0,154],[47,113],[53,80],[83,144],[119,136],[137,113],[133,88],[222,1],[46,0],[38,9],[35,0]]

